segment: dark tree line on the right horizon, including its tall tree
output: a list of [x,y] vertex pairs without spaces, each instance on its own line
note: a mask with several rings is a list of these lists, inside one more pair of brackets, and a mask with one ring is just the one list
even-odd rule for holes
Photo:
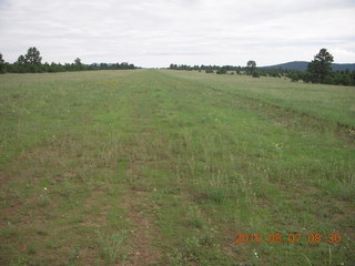
[[306,83],[322,83],[322,84],[336,84],[336,85],[355,85],[355,71],[333,71],[332,62],[333,55],[326,50],[321,49],[314,55],[312,62],[308,63],[307,71],[283,70],[283,69],[263,69],[256,68],[256,62],[250,60],[246,66],[233,65],[186,65],[186,64],[170,64],[169,69],[172,70],[187,70],[187,71],[205,71],[206,73],[216,74],[247,74],[253,78],[260,76],[275,76],[290,78],[291,81],[297,82],[300,80]]

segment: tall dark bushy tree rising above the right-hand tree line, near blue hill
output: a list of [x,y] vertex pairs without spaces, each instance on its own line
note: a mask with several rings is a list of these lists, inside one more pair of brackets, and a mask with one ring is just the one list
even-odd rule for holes
[[324,83],[332,72],[333,55],[325,49],[314,55],[314,60],[308,63],[308,72],[313,82]]

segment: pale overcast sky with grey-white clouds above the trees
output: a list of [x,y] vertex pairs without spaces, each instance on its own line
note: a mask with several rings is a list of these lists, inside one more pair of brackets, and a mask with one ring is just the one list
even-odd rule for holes
[[0,0],[0,52],[43,61],[257,65],[326,48],[355,63],[355,0]]

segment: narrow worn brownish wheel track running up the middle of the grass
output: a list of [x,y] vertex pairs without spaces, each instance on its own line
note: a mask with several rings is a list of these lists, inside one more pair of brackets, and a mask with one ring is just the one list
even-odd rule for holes
[[[144,88],[143,88],[144,89]],[[134,94],[132,98],[132,132],[133,144],[129,150],[130,160],[125,170],[128,176],[129,191],[124,196],[123,206],[128,214],[128,221],[132,225],[129,238],[129,256],[126,265],[158,265],[161,260],[161,253],[153,247],[152,243],[159,237],[153,228],[153,224],[148,217],[150,213],[149,196],[149,176],[144,168],[151,166],[153,158],[149,154],[149,143],[151,143],[150,122],[144,117],[144,110],[140,103],[146,99],[146,91]]]

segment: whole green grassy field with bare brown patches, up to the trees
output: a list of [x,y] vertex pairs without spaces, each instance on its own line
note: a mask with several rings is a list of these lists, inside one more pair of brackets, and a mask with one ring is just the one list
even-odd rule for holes
[[355,88],[3,74],[0,104],[0,265],[355,263]]

